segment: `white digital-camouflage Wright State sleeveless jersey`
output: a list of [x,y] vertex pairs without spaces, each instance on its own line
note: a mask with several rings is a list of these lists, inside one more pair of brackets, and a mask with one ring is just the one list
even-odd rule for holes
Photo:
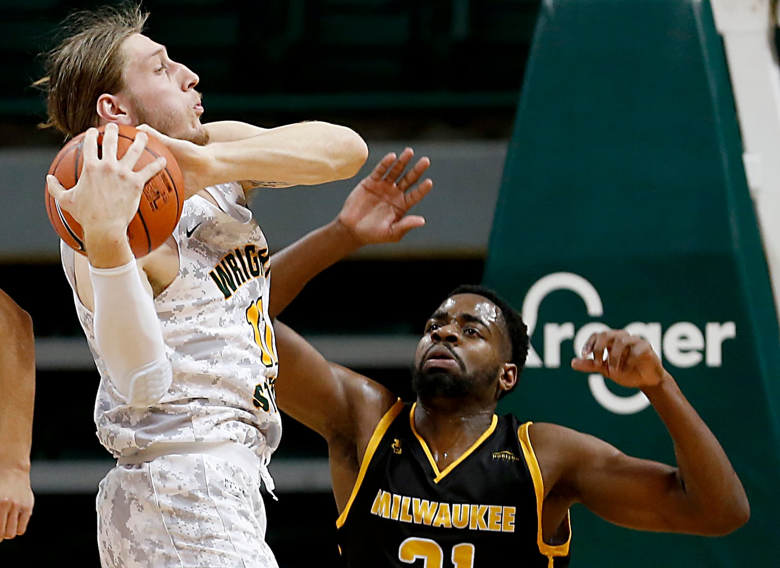
[[249,446],[268,464],[282,435],[274,394],[276,345],[268,318],[268,245],[238,183],[207,191],[219,207],[201,196],[184,202],[173,233],[179,274],[154,298],[173,382],[151,408],[129,407],[108,381],[95,346],[92,313],[76,295],[75,252],[61,245],[76,311],[101,374],[94,411],[97,436],[114,457],[131,457],[160,443],[233,441]]

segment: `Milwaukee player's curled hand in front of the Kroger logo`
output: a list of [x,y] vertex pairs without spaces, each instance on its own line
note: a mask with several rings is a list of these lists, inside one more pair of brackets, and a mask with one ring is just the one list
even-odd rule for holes
[[[593,358],[589,358],[589,355]],[[657,386],[665,376],[649,341],[624,330],[594,333],[585,342],[580,358],[572,359],[572,369],[597,372],[622,386]]]

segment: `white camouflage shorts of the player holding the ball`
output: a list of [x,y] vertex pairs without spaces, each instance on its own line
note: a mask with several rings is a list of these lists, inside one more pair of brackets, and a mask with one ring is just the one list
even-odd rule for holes
[[259,475],[203,453],[118,465],[97,492],[103,568],[278,568]]

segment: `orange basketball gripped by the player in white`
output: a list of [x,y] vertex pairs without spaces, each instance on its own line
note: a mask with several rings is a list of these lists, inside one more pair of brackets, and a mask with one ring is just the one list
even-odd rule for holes
[[[97,151],[98,156],[100,156],[105,126],[101,126],[97,130],[99,132]],[[137,132],[140,131],[133,126],[119,125],[118,158],[125,154],[127,148],[133,143]],[[51,162],[48,173],[54,175],[65,189],[73,188],[79,180],[83,167],[83,143],[84,132],[62,146],[62,150]],[[138,212],[127,227],[127,238],[136,258],[149,254],[165,242],[165,239],[176,228],[179,217],[182,215],[184,179],[179,165],[176,164],[176,158],[173,157],[165,144],[154,136],[149,136],[144,153],[141,154],[133,169],[138,171],[160,156],[165,157],[165,168],[144,185]],[[69,213],[60,209],[56,199],[49,194],[48,190],[44,191],[46,192],[46,211],[59,238],[76,251],[87,254],[83,245],[81,225]]]

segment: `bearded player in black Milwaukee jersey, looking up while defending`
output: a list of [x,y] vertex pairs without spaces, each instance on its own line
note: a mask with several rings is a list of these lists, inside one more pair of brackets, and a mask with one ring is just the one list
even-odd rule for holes
[[275,329],[278,405],[328,441],[349,568],[566,566],[574,503],[642,531],[726,534],[750,515],[718,440],[650,344],[625,331],[592,335],[572,367],[643,390],[678,467],[559,425],[496,416],[528,337],[519,314],[485,288],[456,288],[427,320],[413,404],[325,361],[282,323]]

